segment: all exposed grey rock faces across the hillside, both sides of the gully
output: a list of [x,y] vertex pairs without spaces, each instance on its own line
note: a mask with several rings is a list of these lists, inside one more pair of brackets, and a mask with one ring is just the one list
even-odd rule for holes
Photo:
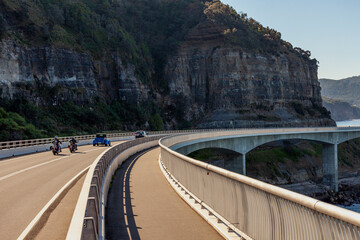
[[[294,103],[301,109],[322,106],[316,64],[293,53],[265,55],[228,46],[221,28],[207,23],[188,36],[164,72],[170,91],[160,96],[118,53],[93,60],[71,50],[0,43],[2,98],[24,97],[38,105],[88,104],[96,97],[139,104],[154,98],[165,109],[180,107],[176,99],[182,98],[184,118],[200,128],[334,125],[317,112],[294,111]],[[174,115],[165,115],[166,128],[176,128]]]

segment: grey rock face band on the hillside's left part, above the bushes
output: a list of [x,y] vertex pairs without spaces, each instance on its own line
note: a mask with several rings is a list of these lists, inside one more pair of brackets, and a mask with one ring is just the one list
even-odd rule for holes
[[1,97],[25,97],[35,103],[90,103],[95,96],[130,103],[146,99],[148,89],[135,68],[111,61],[93,61],[86,53],[51,47],[25,48],[11,41],[0,44]]

